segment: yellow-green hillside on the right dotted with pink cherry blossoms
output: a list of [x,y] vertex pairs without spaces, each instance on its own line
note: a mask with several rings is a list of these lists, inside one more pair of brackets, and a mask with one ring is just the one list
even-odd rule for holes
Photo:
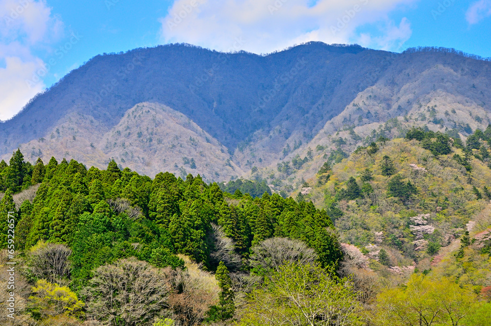
[[[464,147],[458,140],[426,135],[360,147],[342,162],[324,165],[301,187],[299,198],[326,208],[340,240],[359,247],[381,275],[462,268],[467,261],[479,271],[445,275],[462,276],[463,285],[487,286],[491,128],[476,132]],[[445,141],[449,146],[440,147]],[[467,230],[477,240],[471,246],[464,240]],[[456,257],[460,239],[465,245]],[[475,259],[469,258],[472,252]]]

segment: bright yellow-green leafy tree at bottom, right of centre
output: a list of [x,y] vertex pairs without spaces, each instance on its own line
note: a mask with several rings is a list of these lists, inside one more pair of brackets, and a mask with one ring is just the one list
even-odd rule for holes
[[348,279],[316,265],[289,263],[247,296],[238,325],[357,325],[358,309]]

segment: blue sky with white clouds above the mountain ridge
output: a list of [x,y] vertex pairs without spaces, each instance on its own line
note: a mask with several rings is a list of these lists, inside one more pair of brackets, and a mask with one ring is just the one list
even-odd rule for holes
[[491,0],[0,0],[0,120],[91,57],[187,42],[270,53],[317,40],[491,56]]

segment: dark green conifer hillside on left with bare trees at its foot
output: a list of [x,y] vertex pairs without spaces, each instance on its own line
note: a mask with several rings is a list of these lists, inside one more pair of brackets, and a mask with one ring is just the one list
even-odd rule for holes
[[[335,266],[342,258],[331,220],[312,203],[268,193],[255,199],[240,192],[231,195],[217,184],[205,184],[199,175],[183,180],[166,172],[152,180],[128,168],[121,171],[112,161],[107,170],[87,170],[74,160],[58,163],[52,159],[46,165],[38,160],[32,166],[17,151],[10,164],[2,161],[0,166],[5,190],[0,203],[0,245],[7,248],[12,243],[7,221],[14,218],[15,260],[22,271],[18,284],[26,290],[17,294],[18,302],[24,302],[20,311],[25,324],[19,325],[76,325],[77,320],[82,323],[90,318],[108,325],[151,325],[169,316],[178,325],[195,325],[205,318],[223,319],[219,316],[225,309],[217,300],[217,289],[224,286],[220,280],[215,284],[205,271],[234,272],[242,278],[251,269],[257,275],[268,272],[263,266],[267,258],[251,257],[267,239],[291,242],[293,250],[307,252],[322,267]],[[19,194],[32,187],[37,189],[35,198],[16,202],[14,198],[22,199]],[[296,247],[299,244],[305,245]],[[6,258],[2,256],[2,264]],[[250,265],[250,261],[256,263]],[[153,297],[140,298],[139,310],[118,306],[103,311],[101,304],[109,294],[97,285],[105,276],[135,272],[128,277],[141,273],[138,281],[147,282],[145,277],[158,277],[159,269],[170,277],[157,283],[169,287],[155,294],[165,297],[165,302],[158,305]],[[29,283],[34,285],[30,293]],[[127,291],[133,296],[139,290]],[[155,292],[142,291],[145,295]],[[5,293],[1,293],[3,304]],[[53,298],[47,293],[58,295]],[[60,307],[63,300],[69,303]],[[6,322],[6,316],[1,316]]]

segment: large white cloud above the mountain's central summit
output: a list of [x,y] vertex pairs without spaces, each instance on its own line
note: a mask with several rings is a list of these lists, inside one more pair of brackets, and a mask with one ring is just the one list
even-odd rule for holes
[[160,20],[164,42],[186,42],[221,51],[267,53],[311,40],[354,43],[359,27],[382,26],[370,36],[380,49],[397,51],[411,35],[388,13],[416,0],[175,0]]

